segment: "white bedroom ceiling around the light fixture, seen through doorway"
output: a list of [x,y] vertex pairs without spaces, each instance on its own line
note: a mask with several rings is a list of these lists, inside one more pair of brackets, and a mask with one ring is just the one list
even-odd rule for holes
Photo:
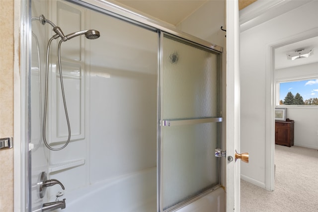
[[[311,54],[309,58],[302,58],[294,61],[287,59],[286,54],[293,53],[301,49],[314,49],[314,54]],[[318,37],[306,39],[275,49],[275,69],[302,66],[311,63],[318,63]]]

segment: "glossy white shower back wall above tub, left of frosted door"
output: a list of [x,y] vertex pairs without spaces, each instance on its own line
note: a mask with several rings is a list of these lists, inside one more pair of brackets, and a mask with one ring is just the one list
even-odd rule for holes
[[90,43],[90,182],[97,183],[157,165],[158,34],[98,12],[90,18],[101,34]]

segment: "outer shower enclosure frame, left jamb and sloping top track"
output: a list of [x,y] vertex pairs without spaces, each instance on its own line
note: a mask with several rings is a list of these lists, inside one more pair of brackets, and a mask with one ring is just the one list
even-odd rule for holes
[[[197,43],[199,45],[205,46],[209,49],[218,51],[222,54],[223,47],[213,45],[207,41],[201,40],[199,38],[193,37],[191,35],[188,35],[186,33],[177,31],[175,28],[161,23],[156,20],[149,19],[145,16],[139,15],[137,13],[131,12],[125,8],[119,7],[115,4],[95,0],[93,4],[91,4],[91,0],[69,0],[73,3],[82,5],[84,7],[88,7],[94,10],[102,11],[103,13],[107,12],[110,15],[113,15],[115,17],[118,17],[120,19],[128,20],[131,23],[135,23],[139,26],[144,26],[146,28],[156,28],[159,31],[163,31],[168,34],[172,34],[174,36],[183,38],[185,40],[189,40],[191,42]],[[21,29],[21,37],[20,37],[20,48],[21,48],[21,56],[20,56],[20,70],[29,70],[30,67],[30,46],[31,46],[31,26],[30,26],[30,7],[31,7],[30,1],[22,1],[20,4],[20,29]],[[224,64],[224,55],[222,54],[222,64]],[[224,66],[222,66],[224,67]],[[224,68],[223,68],[224,69]],[[19,70],[19,71],[20,71]],[[222,71],[225,72],[224,70]],[[29,95],[28,93],[28,87],[30,86],[29,83],[29,73],[26,71],[20,71],[21,75],[19,75],[19,80],[21,80],[19,84],[19,91],[17,91],[17,87],[15,87],[15,93],[18,94],[18,96],[15,98],[19,98],[19,101],[15,102],[15,109],[19,109],[19,112],[15,113],[15,139],[18,140],[25,140],[25,142],[21,142],[19,145],[15,145],[14,152],[15,155],[19,155],[19,157],[14,162],[14,169],[17,174],[15,174],[14,177],[14,211],[27,211],[28,207],[30,207],[30,200],[28,198],[28,182],[29,182],[29,157],[30,153],[28,151],[27,146],[27,140],[30,137],[30,132],[28,132],[29,128],[29,111],[27,111],[30,107],[30,102],[27,98]],[[26,85],[23,87],[23,85]],[[224,124],[225,125],[225,122]],[[18,126],[18,127],[17,127]],[[223,127],[225,129],[225,127]],[[225,141],[222,141],[222,143],[225,143]],[[225,184],[225,164],[222,165],[222,177],[221,182],[222,184]],[[159,205],[159,204],[157,204]],[[157,206],[158,207],[158,206]]]

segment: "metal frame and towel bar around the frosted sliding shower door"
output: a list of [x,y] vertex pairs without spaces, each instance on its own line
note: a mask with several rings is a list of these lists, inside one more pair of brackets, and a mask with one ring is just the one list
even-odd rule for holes
[[[162,111],[162,102],[161,100],[163,99],[163,96],[165,94],[163,94],[162,92],[162,84],[163,83],[163,78],[161,78],[163,76],[163,51],[164,51],[164,47],[163,47],[163,38],[166,37],[168,39],[171,39],[171,40],[175,40],[175,42],[180,42],[180,43],[183,43],[184,45],[189,45],[191,47],[194,47],[194,48],[198,48],[202,51],[207,51],[209,53],[212,53],[214,52],[215,55],[217,55],[217,77],[216,77],[216,81],[217,81],[217,86],[216,86],[216,89],[217,89],[217,93],[218,93],[218,97],[216,97],[217,99],[217,103],[216,103],[216,107],[218,108],[218,113],[220,115],[220,117],[205,117],[205,118],[202,118],[202,117],[197,117],[197,119],[175,119],[175,120],[164,120],[164,118],[162,118],[162,114],[161,114],[161,111]],[[187,205],[191,205],[193,204],[194,202],[196,202],[197,200],[200,200],[200,198],[206,196],[206,195],[209,195],[210,193],[216,191],[217,189],[221,188],[222,189],[222,185],[225,185],[225,180],[224,178],[222,178],[223,176],[223,173],[222,170],[225,168],[223,166],[224,164],[224,161],[222,160],[222,158],[220,158],[220,160],[217,160],[218,163],[219,163],[219,167],[218,167],[218,171],[219,171],[219,184],[218,185],[214,185],[212,187],[209,187],[209,188],[205,188],[203,190],[200,191],[199,194],[196,194],[196,195],[193,195],[191,197],[188,197],[184,200],[181,200],[179,203],[176,203],[175,205],[173,206],[170,206],[166,209],[164,209],[164,203],[163,203],[163,196],[164,196],[164,192],[163,192],[163,174],[162,174],[162,171],[163,171],[163,134],[162,134],[162,130],[164,127],[170,127],[170,126],[185,126],[185,125],[195,125],[195,124],[211,124],[211,123],[219,123],[219,127],[218,127],[218,130],[217,130],[217,134],[218,134],[218,138],[216,141],[216,144],[219,143],[220,141],[220,145],[221,146],[217,146],[218,148],[222,148],[223,146],[225,146],[225,143],[223,141],[223,128],[225,128],[225,122],[224,122],[224,119],[222,117],[222,111],[224,110],[224,104],[223,104],[223,74],[222,74],[222,69],[223,69],[223,64],[222,64],[222,57],[223,57],[223,53],[220,52],[220,51],[214,51],[214,50],[211,50],[210,48],[206,48],[206,46],[203,46],[199,43],[195,43],[193,42],[192,40],[186,40],[182,37],[179,37],[179,36],[175,36],[175,35],[172,35],[170,33],[166,33],[164,31],[160,31],[160,37],[159,37],[159,40],[160,40],[160,46],[159,46],[159,56],[160,56],[160,59],[159,59],[159,73],[158,73],[158,76],[159,76],[159,86],[158,86],[158,120],[159,120],[159,124],[158,124],[158,159],[157,159],[157,166],[158,166],[158,204],[157,204],[157,211],[158,212],[178,212],[179,210],[181,210],[182,208],[185,209]],[[210,68],[210,67],[209,67]],[[162,93],[161,93],[162,92]],[[171,141],[169,141],[171,142]],[[186,145],[186,144],[184,144]],[[178,154],[178,152],[176,151],[175,154]],[[211,154],[213,154],[213,152],[211,152]],[[216,158],[217,159],[217,158]],[[222,202],[222,201],[221,201]],[[194,203],[193,205],[196,205],[196,203]],[[222,205],[222,204],[221,204]],[[225,204],[224,204],[225,206]],[[189,206],[191,207],[191,206]],[[187,211],[188,209],[185,209],[185,211]]]

